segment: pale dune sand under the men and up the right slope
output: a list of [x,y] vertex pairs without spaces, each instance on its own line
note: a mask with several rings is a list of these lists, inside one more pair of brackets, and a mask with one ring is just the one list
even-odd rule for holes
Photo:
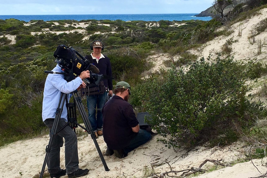
[[[247,61],[254,59],[255,61],[266,62],[266,30],[255,36],[254,43],[251,43],[250,36],[255,32],[256,27],[267,16],[267,8],[260,10],[260,13],[228,27],[232,33],[228,36],[220,36],[209,41],[198,49],[190,50],[199,56],[199,58],[207,58],[208,55],[216,57],[222,50],[222,45],[226,41],[232,41],[232,52],[235,60]],[[88,24],[79,24],[79,27],[86,27]],[[78,32],[85,33],[83,29],[77,29]],[[59,33],[59,32],[57,32]],[[6,35],[14,43],[14,37]],[[87,37],[88,38],[88,37]],[[262,44],[259,53],[259,42]],[[177,59],[178,56],[174,56]],[[155,67],[151,72],[156,71],[160,67],[164,67],[164,60],[168,60],[167,54],[155,54],[150,57],[155,63]],[[183,149],[169,149],[162,143],[157,142],[160,135],[152,137],[151,141],[140,146],[130,152],[125,158],[117,158],[115,155],[105,156],[104,159],[110,171],[105,171],[103,163],[99,157],[92,138],[88,134],[78,137],[78,152],[80,168],[88,168],[90,171],[85,177],[98,178],[141,178],[141,177],[163,177],[180,176],[185,169],[192,167],[198,168],[206,159],[222,160],[220,163],[235,163],[234,166],[220,166],[217,170],[206,172],[197,176],[198,178],[251,178],[259,177],[267,172],[267,158],[253,159],[245,163],[239,163],[238,160],[245,158],[248,146],[242,142],[234,143],[225,148],[220,145],[214,148],[206,148],[204,146],[197,147],[189,151]],[[37,137],[33,139],[21,140],[11,143],[0,148],[0,177],[3,178],[31,178],[39,174],[45,158],[45,148],[49,142],[49,135]],[[103,141],[103,137],[98,137],[98,145],[104,154],[107,146]],[[65,168],[64,146],[61,149],[61,168]],[[210,169],[214,167],[214,163],[208,162],[202,169]],[[175,173],[167,172],[173,171]],[[45,169],[47,172],[47,167]],[[39,176],[38,176],[39,177]],[[62,176],[67,178],[68,176]]]

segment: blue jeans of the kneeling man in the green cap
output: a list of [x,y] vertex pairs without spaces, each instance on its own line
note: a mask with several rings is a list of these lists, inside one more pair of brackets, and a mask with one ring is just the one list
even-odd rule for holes
[[147,132],[144,129],[140,129],[137,135],[132,138],[129,145],[126,146],[123,151],[125,154],[128,154],[130,151],[136,149],[137,147],[147,143],[152,138],[151,133]]

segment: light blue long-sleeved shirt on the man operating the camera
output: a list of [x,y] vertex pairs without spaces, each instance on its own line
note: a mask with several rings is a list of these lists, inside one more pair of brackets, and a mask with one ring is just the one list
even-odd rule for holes
[[[52,70],[53,72],[63,72],[61,67],[57,64],[56,67]],[[55,118],[56,110],[59,105],[60,95],[62,93],[72,93],[82,84],[80,77],[75,78],[74,80],[67,82],[64,79],[63,74],[48,74],[46,77],[46,83],[44,88],[44,98],[42,106],[42,119],[43,121],[48,118]],[[71,94],[68,94],[68,101],[71,97]],[[65,103],[63,106],[63,111],[60,118],[63,118],[66,122],[67,119],[67,107],[66,99],[63,98]],[[61,107],[61,106],[60,106]]]

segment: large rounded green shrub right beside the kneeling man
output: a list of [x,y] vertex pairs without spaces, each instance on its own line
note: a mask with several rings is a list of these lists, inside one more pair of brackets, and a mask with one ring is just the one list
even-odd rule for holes
[[261,103],[247,98],[244,79],[241,64],[232,58],[202,58],[186,73],[173,67],[138,84],[131,104],[151,114],[149,124],[169,147],[189,148],[217,137],[230,143],[252,125],[253,112],[264,114]]

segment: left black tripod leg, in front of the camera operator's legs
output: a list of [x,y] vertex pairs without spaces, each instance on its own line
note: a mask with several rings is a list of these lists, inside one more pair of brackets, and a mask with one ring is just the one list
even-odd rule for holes
[[49,155],[50,150],[51,150],[52,141],[53,141],[54,136],[57,134],[56,131],[57,131],[57,128],[58,128],[58,125],[59,125],[59,120],[60,120],[60,117],[61,117],[61,114],[62,114],[62,111],[63,111],[65,97],[66,97],[66,94],[65,93],[61,93],[60,100],[59,100],[59,105],[58,105],[58,108],[57,108],[57,111],[56,111],[55,120],[54,120],[52,129],[51,129],[51,137],[49,139],[48,145],[46,146],[46,156],[45,156],[45,160],[44,160],[42,171],[40,173],[40,177],[39,178],[43,177],[43,174],[44,174],[44,171],[45,171],[45,167],[46,167],[46,163],[47,163],[47,159],[48,159],[48,155]]

